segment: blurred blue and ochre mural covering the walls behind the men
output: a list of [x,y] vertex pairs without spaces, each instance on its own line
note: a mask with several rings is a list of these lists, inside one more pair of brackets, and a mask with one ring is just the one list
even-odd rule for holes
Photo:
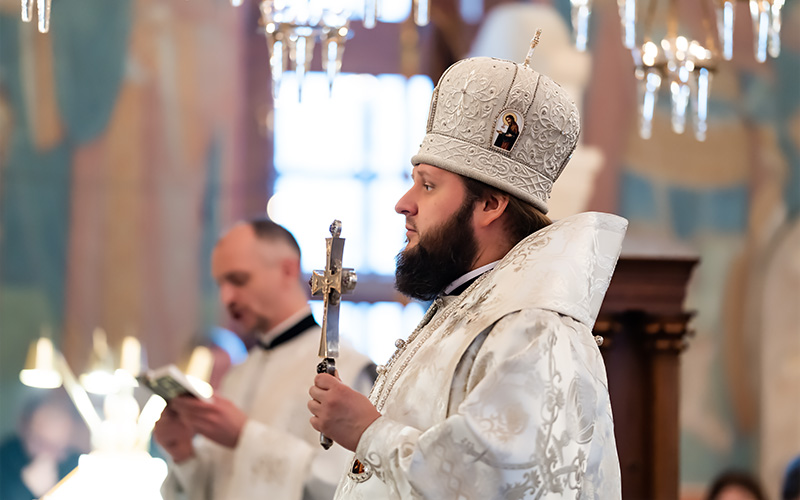
[[[682,481],[701,490],[749,468],[774,497],[800,454],[800,5],[787,1],[783,50],[765,64],[740,16],[697,142],[670,130],[665,95],[653,137],[638,137],[616,6],[597,3],[582,141],[604,163],[585,208],[701,259],[686,304]],[[76,366],[96,326],[112,340],[135,333],[158,366],[213,320],[206,262],[240,215],[232,186],[255,126],[242,110],[243,16],[222,0],[60,0],[42,35],[0,0],[4,400],[24,397],[17,374],[42,326]],[[14,415],[3,405],[0,430]]]

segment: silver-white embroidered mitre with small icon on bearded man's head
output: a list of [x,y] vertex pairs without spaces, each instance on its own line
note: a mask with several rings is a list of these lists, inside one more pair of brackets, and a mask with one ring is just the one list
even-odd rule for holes
[[578,109],[556,82],[524,64],[474,57],[436,85],[411,163],[485,182],[547,213],[579,133]]

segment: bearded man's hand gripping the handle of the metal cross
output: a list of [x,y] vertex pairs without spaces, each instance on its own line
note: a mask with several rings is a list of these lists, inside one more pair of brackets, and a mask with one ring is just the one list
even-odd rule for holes
[[361,435],[381,416],[363,394],[327,373],[314,378],[308,394],[311,427],[350,451],[356,450]]

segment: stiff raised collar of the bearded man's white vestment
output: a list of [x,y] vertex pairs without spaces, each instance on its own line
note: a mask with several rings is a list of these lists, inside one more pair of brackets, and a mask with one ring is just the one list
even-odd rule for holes
[[[537,308],[592,328],[627,226],[622,217],[598,212],[556,221],[517,243],[461,295],[441,296],[440,305],[449,309],[457,302],[458,310],[482,327],[508,313]],[[437,314],[441,321],[447,316],[444,309]],[[475,315],[481,320],[475,321]]]

